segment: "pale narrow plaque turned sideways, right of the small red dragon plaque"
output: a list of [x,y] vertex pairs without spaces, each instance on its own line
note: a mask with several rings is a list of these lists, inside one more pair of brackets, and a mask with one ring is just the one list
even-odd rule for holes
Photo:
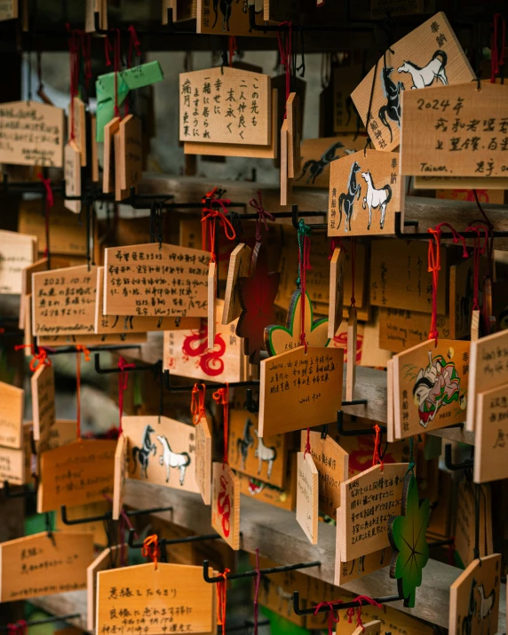
[[311,544],[318,539],[318,471],[313,457],[298,452],[297,521]]

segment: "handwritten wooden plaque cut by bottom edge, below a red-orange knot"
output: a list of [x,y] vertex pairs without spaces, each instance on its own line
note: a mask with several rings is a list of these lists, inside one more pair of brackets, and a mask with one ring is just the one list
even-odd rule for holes
[[[125,598],[122,590],[129,588]],[[111,590],[115,589],[112,593]],[[215,589],[202,578],[202,567],[152,562],[97,574],[97,632],[122,631],[124,611],[133,627],[147,635],[166,629],[211,633],[215,629]],[[182,609],[183,607],[183,609]]]

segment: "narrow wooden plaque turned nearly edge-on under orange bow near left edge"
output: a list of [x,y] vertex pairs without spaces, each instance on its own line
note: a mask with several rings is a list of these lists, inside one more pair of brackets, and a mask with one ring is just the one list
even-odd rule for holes
[[44,446],[47,445],[50,430],[56,423],[55,371],[53,367],[40,364],[30,378],[30,387],[32,390],[34,441],[40,441]]

